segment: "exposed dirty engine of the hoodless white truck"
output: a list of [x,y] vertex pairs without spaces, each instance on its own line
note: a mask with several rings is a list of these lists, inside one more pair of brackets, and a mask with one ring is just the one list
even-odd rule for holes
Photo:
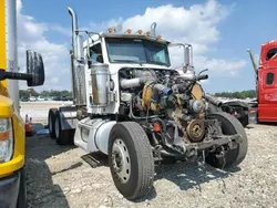
[[[202,142],[206,103],[197,81],[204,79],[206,74],[187,79],[170,70],[122,69],[121,115],[146,121],[156,132],[152,136],[167,145]],[[160,128],[166,135],[157,134]]]

